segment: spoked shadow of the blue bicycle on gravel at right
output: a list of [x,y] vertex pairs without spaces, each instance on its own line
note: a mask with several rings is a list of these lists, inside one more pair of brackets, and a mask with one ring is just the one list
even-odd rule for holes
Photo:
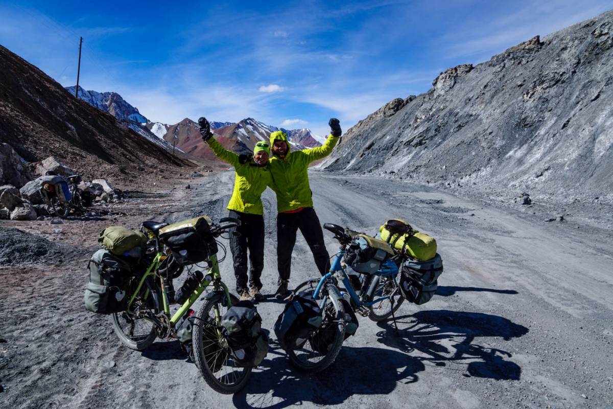
[[[413,318],[413,321],[403,321]],[[450,310],[420,311],[397,318],[398,334],[390,321],[379,323],[384,331],[378,342],[404,353],[419,353],[420,361],[446,366],[447,362],[466,364],[465,377],[493,380],[519,380],[522,369],[509,361],[512,354],[487,348],[475,342],[479,337],[502,337],[505,341],[528,333],[527,327],[507,318],[483,313]],[[406,325],[405,325],[406,324]]]

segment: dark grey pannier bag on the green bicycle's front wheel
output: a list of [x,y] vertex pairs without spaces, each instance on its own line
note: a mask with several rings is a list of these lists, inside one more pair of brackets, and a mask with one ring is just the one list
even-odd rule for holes
[[262,331],[262,317],[251,301],[239,301],[221,318],[221,334],[240,367],[254,368],[268,354],[268,337]]

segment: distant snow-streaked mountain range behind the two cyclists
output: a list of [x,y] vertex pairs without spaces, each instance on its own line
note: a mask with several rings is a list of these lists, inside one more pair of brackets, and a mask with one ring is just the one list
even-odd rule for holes
[[[75,93],[75,89],[75,86],[66,88],[72,94]],[[187,155],[219,162],[219,159],[202,141],[198,124],[189,118],[172,125],[150,121],[115,92],[86,91],[79,86],[78,97],[97,109],[109,112],[118,120],[126,122],[129,128],[152,142],[158,143],[166,150],[171,151],[177,148]],[[270,134],[279,130],[287,134],[291,147],[295,150],[321,146],[318,139],[322,139],[313,135],[308,128],[276,128],[276,126],[264,124],[253,118],[246,118],[238,123],[211,121],[211,128],[226,149],[237,153],[253,151],[257,141],[268,141]]]

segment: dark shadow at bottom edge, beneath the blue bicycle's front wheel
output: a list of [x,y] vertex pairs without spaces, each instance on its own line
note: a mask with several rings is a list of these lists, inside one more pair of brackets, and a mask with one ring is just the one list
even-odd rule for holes
[[[270,356],[276,355],[270,359]],[[365,359],[376,362],[368,365]],[[273,349],[254,372],[249,383],[234,394],[235,407],[280,409],[312,402],[337,405],[353,395],[389,394],[400,381],[417,382],[424,364],[414,357],[383,348],[343,346],[335,362],[322,373],[308,374],[294,369],[285,351]]]

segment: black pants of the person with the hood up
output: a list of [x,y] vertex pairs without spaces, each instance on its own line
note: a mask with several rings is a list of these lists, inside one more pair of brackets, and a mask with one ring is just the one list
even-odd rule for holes
[[326,250],[324,232],[315,210],[307,207],[297,213],[279,213],[276,218],[276,262],[280,280],[289,280],[298,229],[307,240],[321,275],[325,275],[330,269],[330,255]]

